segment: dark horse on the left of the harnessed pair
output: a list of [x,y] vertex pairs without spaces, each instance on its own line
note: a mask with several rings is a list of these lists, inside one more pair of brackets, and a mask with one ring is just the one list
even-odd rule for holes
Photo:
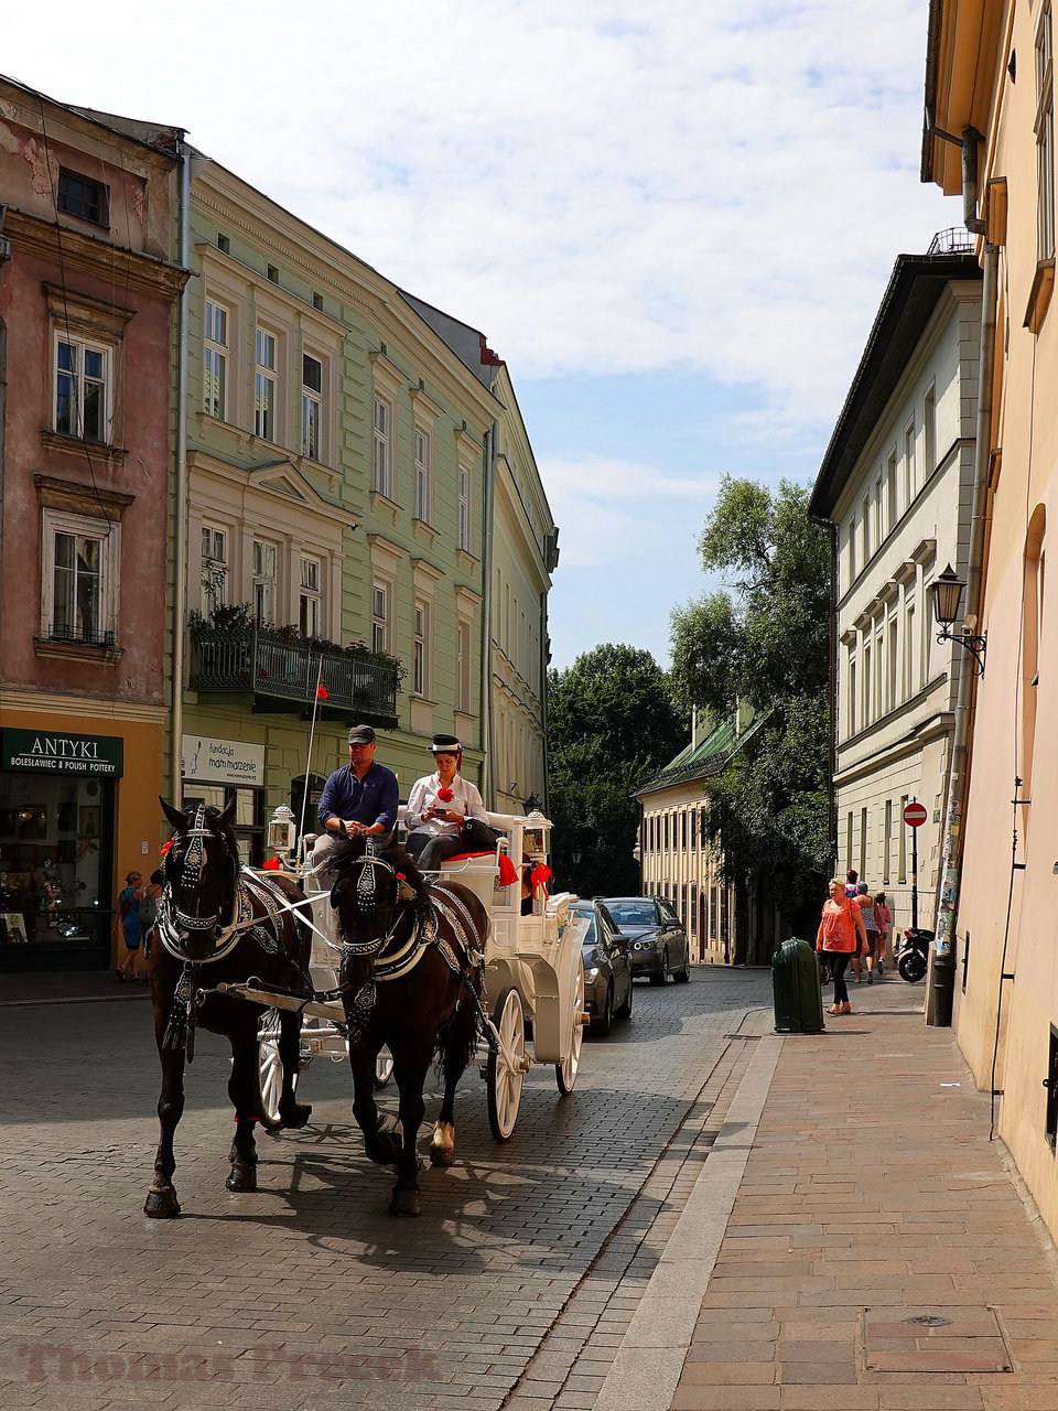
[[[306,988],[312,935],[298,913],[285,909],[305,899],[296,883],[282,876],[265,882],[241,866],[231,831],[234,800],[223,811],[197,806],[188,813],[172,809],[164,799],[159,801],[174,838],[165,854],[165,888],[151,954],[162,1091],[161,1140],[144,1211],[166,1219],[181,1213],[172,1185],[176,1168],[172,1140],[183,1113],[183,1064],[193,1057],[197,1024],[231,1041],[227,1091],[236,1109],[236,1137],[229,1154],[227,1188],[257,1189],[254,1122],[264,1118],[257,1029],[265,1010],[244,999],[217,995],[214,988],[220,981],[240,982],[251,975],[260,976],[265,986]],[[293,1098],[300,1026],[300,1015],[281,1013],[279,1122],[288,1127],[305,1126],[312,1112]]]

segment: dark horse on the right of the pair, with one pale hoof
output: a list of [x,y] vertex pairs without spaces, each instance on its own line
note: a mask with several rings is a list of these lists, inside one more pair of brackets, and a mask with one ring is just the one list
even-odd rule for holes
[[[396,1165],[391,1215],[419,1213],[416,1139],[430,1061],[444,1072],[444,1096],[430,1160],[450,1165],[456,1149],[456,1085],[474,1055],[480,1026],[488,913],[457,882],[430,882],[403,848],[378,852],[340,838],[324,864],[341,928],[341,998],[348,1022],[353,1116],[367,1154]],[[399,1132],[379,1127],[375,1058],[394,1057]]]

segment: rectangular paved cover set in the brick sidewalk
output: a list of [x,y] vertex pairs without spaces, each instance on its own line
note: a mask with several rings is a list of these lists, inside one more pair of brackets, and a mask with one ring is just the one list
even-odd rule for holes
[[863,1309],[868,1371],[1013,1371],[1014,1357],[992,1308]]

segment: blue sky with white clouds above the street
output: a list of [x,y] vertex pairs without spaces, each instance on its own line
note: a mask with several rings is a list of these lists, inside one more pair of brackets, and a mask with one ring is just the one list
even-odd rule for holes
[[808,483],[918,179],[927,0],[128,0],[0,68],[189,140],[509,365],[561,559],[553,665],[669,660],[724,474]]

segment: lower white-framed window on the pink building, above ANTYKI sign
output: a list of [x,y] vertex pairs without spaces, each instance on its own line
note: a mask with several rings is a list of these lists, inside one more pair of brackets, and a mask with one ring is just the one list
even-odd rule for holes
[[104,519],[44,511],[41,636],[113,646],[120,529]]

